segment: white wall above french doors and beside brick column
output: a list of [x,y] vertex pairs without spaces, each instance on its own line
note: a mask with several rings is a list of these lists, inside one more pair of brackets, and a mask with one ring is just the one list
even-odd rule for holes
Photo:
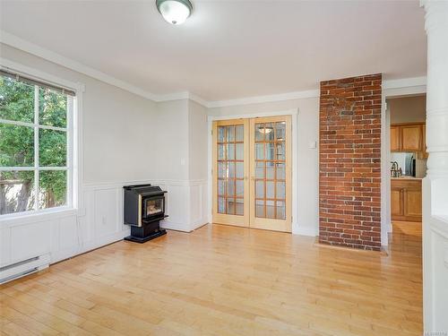
[[[297,152],[295,154],[298,161],[298,197],[295,202],[298,206],[297,214],[293,213],[293,233],[317,236],[319,232],[319,99],[290,99],[262,104],[209,108],[209,115],[256,116],[297,108]],[[317,142],[317,148],[310,149],[310,142]]]

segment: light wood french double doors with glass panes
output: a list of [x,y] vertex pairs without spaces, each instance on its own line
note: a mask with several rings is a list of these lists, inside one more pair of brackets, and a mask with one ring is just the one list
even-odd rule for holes
[[291,116],[213,123],[213,222],[291,231]]

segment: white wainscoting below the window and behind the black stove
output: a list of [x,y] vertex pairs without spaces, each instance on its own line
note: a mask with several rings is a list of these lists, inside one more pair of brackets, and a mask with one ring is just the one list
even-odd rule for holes
[[80,209],[2,220],[0,267],[42,254],[56,263],[128,236],[123,186],[160,185],[167,190],[167,220],[160,224],[190,232],[207,223],[207,181],[129,181],[83,185]]

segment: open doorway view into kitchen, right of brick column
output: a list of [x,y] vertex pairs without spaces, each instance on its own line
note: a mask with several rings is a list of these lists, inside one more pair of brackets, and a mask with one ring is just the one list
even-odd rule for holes
[[422,179],[426,177],[426,95],[386,99],[390,120],[390,218],[392,239],[403,232],[421,243]]

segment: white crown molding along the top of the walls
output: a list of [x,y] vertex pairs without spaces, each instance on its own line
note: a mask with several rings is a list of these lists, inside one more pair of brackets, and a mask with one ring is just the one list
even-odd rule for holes
[[[146,99],[150,99],[155,102],[179,100],[179,99],[190,99],[198,104],[201,104],[205,108],[223,108],[236,105],[248,105],[248,104],[259,104],[273,101],[284,101],[291,99],[310,99],[319,97],[319,81],[316,80],[316,89],[314,90],[298,90],[291,91],[273,95],[263,95],[254,97],[245,97],[238,99],[226,99],[226,100],[206,100],[192,92],[187,90],[181,92],[172,92],[167,94],[155,94],[153,92],[143,90],[129,82],[119,80],[107,73],[102,73],[99,70],[91,68],[88,65],[83,65],[82,63],[75,61],[69,57],[57,54],[45,47],[39,47],[38,45],[29,42],[25,39],[21,39],[7,31],[0,30],[0,42],[8,45],[10,47],[15,47],[27,53],[35,56],[39,56],[47,61],[53,62],[56,65],[63,65],[68,69],[76,71],[78,73],[83,73],[92,78],[95,78],[101,82],[106,82],[110,85],[116,86],[122,90],[132,92],[138,96]],[[404,78],[390,81],[383,81],[383,90],[410,88],[410,87],[422,87],[426,86],[426,77],[413,77]]]

